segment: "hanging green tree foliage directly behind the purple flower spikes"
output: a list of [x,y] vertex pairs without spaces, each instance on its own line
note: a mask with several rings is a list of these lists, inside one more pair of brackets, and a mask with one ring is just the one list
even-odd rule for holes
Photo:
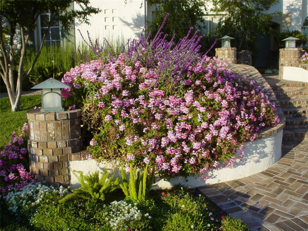
[[195,30],[198,29],[200,31],[206,27],[202,19],[205,9],[205,3],[203,1],[150,0],[148,3],[155,8],[153,12],[155,17],[152,21],[148,22],[148,31],[151,31],[152,38],[160,28],[166,13],[169,13],[169,16],[161,31],[164,34],[168,34],[168,39],[171,39],[173,34],[176,34],[174,40],[179,41],[179,39],[186,36],[190,27],[194,27]]

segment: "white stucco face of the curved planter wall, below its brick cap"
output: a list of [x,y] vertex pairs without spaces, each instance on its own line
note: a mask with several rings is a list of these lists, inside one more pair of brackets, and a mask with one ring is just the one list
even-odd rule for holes
[[[232,169],[213,170],[209,173],[210,178],[206,182],[201,176],[189,176],[186,178],[176,177],[170,179],[170,181],[156,178],[152,188],[170,188],[179,183],[187,187],[198,187],[206,184],[239,179],[261,172],[274,165],[279,160],[281,156],[281,141],[282,130],[276,135],[245,143],[245,156],[242,162],[236,163],[235,167]],[[120,176],[120,172],[114,163],[105,162],[98,164],[95,160],[80,160],[70,161],[70,167],[73,170],[83,171],[85,174],[107,169],[109,172],[115,174],[115,178]],[[77,178],[71,174],[71,187],[76,188],[78,186],[79,183]]]

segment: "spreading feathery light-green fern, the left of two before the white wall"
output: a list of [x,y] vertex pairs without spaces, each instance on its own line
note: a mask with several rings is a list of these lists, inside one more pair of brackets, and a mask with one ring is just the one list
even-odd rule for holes
[[[73,193],[61,199],[60,203],[68,200],[89,198],[104,201],[105,194],[115,190],[119,184],[119,178],[113,181],[113,177],[108,177],[108,172],[103,172],[101,178],[99,178],[98,171],[89,174],[88,176],[84,176],[81,171],[72,171],[72,173],[74,173],[79,180],[81,187],[73,189]],[[77,176],[76,173],[78,173],[79,176]]]

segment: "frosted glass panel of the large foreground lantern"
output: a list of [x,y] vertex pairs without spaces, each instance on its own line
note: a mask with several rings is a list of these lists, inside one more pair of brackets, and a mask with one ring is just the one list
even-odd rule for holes
[[42,106],[43,109],[62,108],[61,89],[42,89]]

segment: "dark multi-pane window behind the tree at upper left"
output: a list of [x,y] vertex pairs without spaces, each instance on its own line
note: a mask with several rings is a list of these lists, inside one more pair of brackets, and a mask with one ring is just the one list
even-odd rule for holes
[[[47,12],[41,14],[39,17],[39,25],[40,25],[40,41],[46,30],[48,29],[48,24],[50,22],[52,15]],[[60,29],[60,21],[53,24],[49,30],[46,32],[45,36],[45,44],[46,45],[60,45],[61,41],[61,29]]]

